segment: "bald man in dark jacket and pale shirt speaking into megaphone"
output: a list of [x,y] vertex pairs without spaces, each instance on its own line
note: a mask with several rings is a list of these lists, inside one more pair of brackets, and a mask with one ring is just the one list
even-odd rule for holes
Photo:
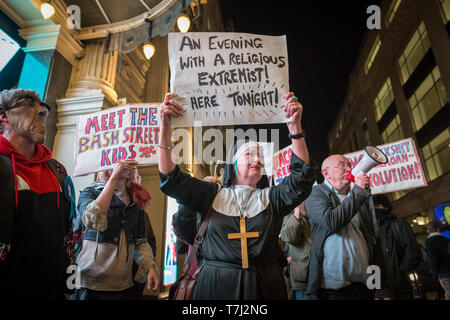
[[314,186],[305,202],[312,230],[307,292],[319,300],[373,299],[374,292],[367,286],[368,267],[376,265],[381,270],[376,298],[388,299],[391,294],[377,245],[369,177],[359,175],[351,188],[350,172],[347,158],[329,156],[322,163],[325,181]]

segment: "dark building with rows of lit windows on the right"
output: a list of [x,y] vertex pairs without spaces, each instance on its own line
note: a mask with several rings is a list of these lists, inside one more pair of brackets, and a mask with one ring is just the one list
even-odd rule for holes
[[450,0],[384,0],[381,29],[368,30],[330,153],[413,138],[428,186],[389,194],[394,213],[420,225],[450,202]]

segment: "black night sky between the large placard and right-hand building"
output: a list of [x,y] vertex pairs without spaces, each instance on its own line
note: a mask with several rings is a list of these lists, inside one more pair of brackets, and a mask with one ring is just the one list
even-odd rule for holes
[[[221,4],[224,18],[233,20],[236,32],[287,36],[290,89],[304,106],[308,148],[320,164],[328,155],[327,133],[368,32],[367,7],[380,1],[221,0]],[[286,126],[280,128],[283,148],[290,140]]]

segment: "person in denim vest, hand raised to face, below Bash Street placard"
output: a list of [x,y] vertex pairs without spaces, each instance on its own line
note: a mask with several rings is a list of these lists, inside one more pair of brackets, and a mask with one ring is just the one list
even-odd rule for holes
[[[145,230],[149,197],[134,182],[137,162],[124,160],[80,193],[84,225],[78,256],[82,294],[87,300],[135,299],[133,280],[156,291],[159,279]],[[138,270],[133,278],[133,259]]]

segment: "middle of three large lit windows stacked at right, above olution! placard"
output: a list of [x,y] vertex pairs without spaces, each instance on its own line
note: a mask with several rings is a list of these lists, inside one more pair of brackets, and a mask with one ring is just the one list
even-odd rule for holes
[[436,66],[409,98],[416,131],[420,130],[445,104],[447,93]]

